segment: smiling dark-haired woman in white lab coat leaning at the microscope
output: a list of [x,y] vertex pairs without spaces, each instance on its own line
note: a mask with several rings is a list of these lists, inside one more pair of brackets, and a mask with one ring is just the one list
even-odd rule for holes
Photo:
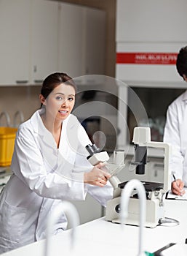
[[[62,72],[43,82],[42,105],[20,124],[12,157],[12,176],[0,195],[0,253],[45,238],[46,219],[61,200],[85,200],[87,192],[101,205],[112,198],[110,174],[93,167],[85,146],[90,140],[76,116],[76,86]],[[65,215],[55,233],[65,230]]]

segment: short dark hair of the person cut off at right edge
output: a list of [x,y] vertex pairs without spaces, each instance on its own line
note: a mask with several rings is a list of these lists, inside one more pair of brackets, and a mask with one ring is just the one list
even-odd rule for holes
[[187,77],[187,46],[180,49],[178,58],[176,61],[176,67],[179,75],[183,78],[183,75]]

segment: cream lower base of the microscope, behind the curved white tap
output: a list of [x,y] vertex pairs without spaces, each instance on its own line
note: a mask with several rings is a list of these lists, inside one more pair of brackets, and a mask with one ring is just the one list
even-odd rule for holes
[[[106,205],[106,220],[114,223],[120,223],[120,197],[108,200]],[[159,206],[159,200],[146,200],[146,227],[156,227],[159,225],[159,219],[164,217],[164,207]],[[139,225],[139,200],[130,198],[128,217],[126,219],[128,225]]]

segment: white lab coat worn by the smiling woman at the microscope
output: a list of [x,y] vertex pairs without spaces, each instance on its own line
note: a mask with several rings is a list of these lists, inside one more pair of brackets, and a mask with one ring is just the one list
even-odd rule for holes
[[[0,253],[45,237],[47,215],[61,200],[84,200],[87,192],[103,206],[111,199],[110,184],[84,184],[90,140],[73,115],[63,121],[60,146],[44,127],[39,111],[21,124],[15,140],[12,172],[0,197]],[[65,215],[55,232],[66,227]]]

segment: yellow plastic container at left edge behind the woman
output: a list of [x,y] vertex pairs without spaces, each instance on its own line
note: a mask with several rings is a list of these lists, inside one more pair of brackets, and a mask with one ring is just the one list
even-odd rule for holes
[[9,166],[15,146],[17,128],[0,127],[0,166]]

